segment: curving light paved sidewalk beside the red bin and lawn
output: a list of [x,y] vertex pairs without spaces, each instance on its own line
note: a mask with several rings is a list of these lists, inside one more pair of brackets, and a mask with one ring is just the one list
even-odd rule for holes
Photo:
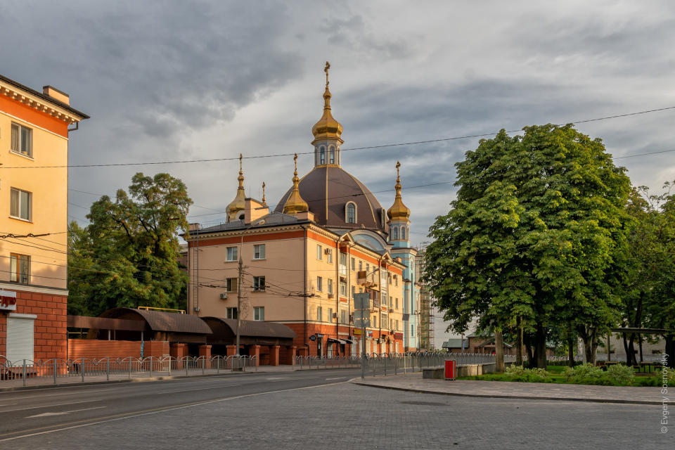
[[446,381],[422,378],[422,373],[420,372],[378,377],[366,376],[365,380],[354,378],[352,383],[385,389],[424,392],[427,394],[459,395],[463,397],[662,404],[660,387],[558,385],[553,383],[479,380]]

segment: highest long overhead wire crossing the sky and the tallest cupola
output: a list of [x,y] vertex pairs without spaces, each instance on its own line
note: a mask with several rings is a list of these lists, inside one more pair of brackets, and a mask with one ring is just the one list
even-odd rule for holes
[[[617,119],[619,117],[630,117],[634,115],[642,115],[648,113],[657,113],[660,111],[674,110],[675,106],[667,106],[665,108],[655,108],[651,110],[637,111],[635,113],[625,113],[617,115],[608,115],[605,117],[596,117],[593,119],[584,119],[584,120],[575,120],[574,122],[567,122],[567,124],[584,124],[588,122],[598,122],[600,120],[609,120]],[[561,124],[562,125],[562,124]],[[507,133],[518,133],[522,129],[512,129],[506,131]],[[352,148],[341,148],[340,151],[352,151],[352,150],[375,150],[378,148],[390,148],[390,147],[399,147],[399,146],[414,146],[423,143],[434,143],[434,142],[444,142],[444,141],[456,141],[460,139],[471,139],[471,138],[480,138],[485,136],[494,136],[498,131],[492,131],[490,133],[481,133],[481,134],[467,134],[465,136],[451,136],[446,138],[439,139],[426,139],[423,141],[410,141],[410,142],[398,142],[398,143],[387,143],[380,144],[376,146],[363,146],[363,147],[352,147]],[[252,160],[259,158],[279,158],[293,156],[294,153],[277,153],[272,155],[254,155],[254,156],[245,156],[244,159]],[[307,152],[297,152],[298,155],[311,155],[314,154],[314,150]],[[72,164],[72,165],[52,165],[52,166],[11,166],[11,167],[2,167],[0,169],[60,169],[66,167],[125,167],[125,166],[143,166],[143,165],[164,165],[164,164],[188,164],[194,162],[219,162],[219,161],[234,161],[239,158],[209,158],[203,160],[172,160],[172,161],[148,161],[148,162],[111,162],[103,164]]]

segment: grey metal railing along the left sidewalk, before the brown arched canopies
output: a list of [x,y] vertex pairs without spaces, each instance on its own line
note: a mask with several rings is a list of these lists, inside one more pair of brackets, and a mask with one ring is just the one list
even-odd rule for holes
[[87,377],[103,377],[106,380],[119,380],[132,377],[153,377],[162,375],[206,375],[224,371],[257,371],[257,356],[148,356],[147,358],[102,358],[102,359],[46,359],[32,361],[9,361],[0,355],[0,380],[30,380],[79,378],[84,382]]

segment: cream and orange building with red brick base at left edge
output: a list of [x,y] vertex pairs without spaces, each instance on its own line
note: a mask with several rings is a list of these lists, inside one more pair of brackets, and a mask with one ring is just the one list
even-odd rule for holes
[[[0,356],[66,356],[68,94],[0,75]],[[54,166],[31,169],[39,166]]]

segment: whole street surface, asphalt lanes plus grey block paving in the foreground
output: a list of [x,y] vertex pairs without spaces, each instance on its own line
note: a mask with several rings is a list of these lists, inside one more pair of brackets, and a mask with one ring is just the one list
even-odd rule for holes
[[666,449],[650,405],[476,399],[346,383],[358,369],[0,394],[3,448]]

